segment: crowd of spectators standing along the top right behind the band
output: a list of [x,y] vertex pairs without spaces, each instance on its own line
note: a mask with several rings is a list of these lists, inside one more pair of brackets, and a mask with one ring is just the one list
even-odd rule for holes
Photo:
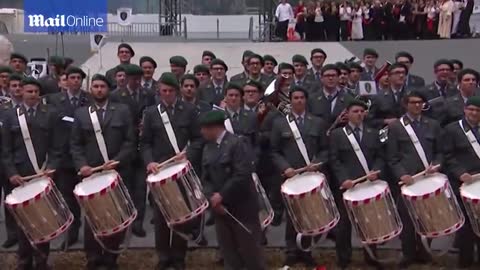
[[[478,15],[477,15],[478,14]],[[282,40],[449,39],[480,36],[474,0],[287,0],[277,6]]]

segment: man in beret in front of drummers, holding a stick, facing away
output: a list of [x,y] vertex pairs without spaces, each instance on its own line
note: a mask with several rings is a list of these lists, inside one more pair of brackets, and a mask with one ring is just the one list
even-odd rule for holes
[[252,156],[252,148],[227,132],[224,121],[221,111],[210,111],[200,120],[203,138],[208,142],[202,159],[203,191],[214,210],[225,269],[263,270],[266,266],[260,243],[257,194],[251,179],[254,166],[245,158]]

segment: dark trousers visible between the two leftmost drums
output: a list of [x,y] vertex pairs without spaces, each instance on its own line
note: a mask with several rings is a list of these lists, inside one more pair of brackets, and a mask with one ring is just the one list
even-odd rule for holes
[[75,199],[73,190],[75,189],[75,186],[80,183],[80,176],[77,175],[77,171],[74,168],[59,168],[55,171],[54,179],[58,190],[60,190],[62,193],[63,199],[73,214],[74,219],[70,230],[78,231],[82,224],[81,210],[77,200]]

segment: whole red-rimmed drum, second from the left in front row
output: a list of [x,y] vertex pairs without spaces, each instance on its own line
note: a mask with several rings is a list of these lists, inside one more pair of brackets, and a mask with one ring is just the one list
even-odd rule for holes
[[73,193],[96,236],[106,237],[122,232],[137,217],[137,209],[127,188],[114,170],[83,179]]

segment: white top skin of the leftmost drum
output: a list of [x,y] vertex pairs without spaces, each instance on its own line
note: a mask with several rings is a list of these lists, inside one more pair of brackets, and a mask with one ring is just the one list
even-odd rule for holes
[[23,186],[16,187],[12,193],[5,198],[5,203],[14,205],[31,200],[45,191],[48,185],[50,185],[50,179],[47,177],[34,179]]

